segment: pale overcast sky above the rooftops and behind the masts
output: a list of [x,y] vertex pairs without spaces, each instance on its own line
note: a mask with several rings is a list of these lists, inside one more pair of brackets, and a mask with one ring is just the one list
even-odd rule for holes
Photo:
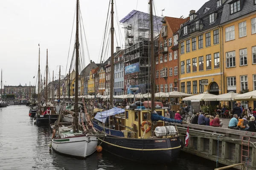
[[[197,11],[205,2],[155,0],[155,11],[161,16],[161,10],[165,8],[164,16],[187,17],[190,10]],[[80,0],[90,59],[95,62],[99,60],[108,3],[109,0]],[[148,12],[148,0],[114,0],[114,3],[119,20],[133,9]],[[47,48],[50,78],[52,71],[58,74],[57,65],[63,66],[61,75],[66,74],[75,5],[76,0],[0,0],[0,68],[3,69],[3,85],[36,84],[38,44],[42,75],[45,72]],[[124,34],[122,25],[115,21],[116,34],[118,26]],[[122,40],[119,37],[116,39]],[[85,57],[86,65],[90,59]]]

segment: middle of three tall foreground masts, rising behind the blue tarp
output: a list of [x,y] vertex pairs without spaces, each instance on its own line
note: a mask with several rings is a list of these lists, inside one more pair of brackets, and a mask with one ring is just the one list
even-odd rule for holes
[[114,90],[114,10],[113,0],[111,0],[111,76],[110,76],[110,105],[113,105],[113,90]]

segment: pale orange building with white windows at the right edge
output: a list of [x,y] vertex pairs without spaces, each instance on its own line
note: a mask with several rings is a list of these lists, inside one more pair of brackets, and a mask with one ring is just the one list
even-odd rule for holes
[[[256,1],[228,1],[222,6],[224,92],[256,90]],[[247,101],[241,101],[244,108]],[[252,108],[256,102],[250,102]]]

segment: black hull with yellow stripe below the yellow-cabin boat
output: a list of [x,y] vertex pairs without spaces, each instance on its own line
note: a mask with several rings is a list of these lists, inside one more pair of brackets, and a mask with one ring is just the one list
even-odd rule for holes
[[179,156],[180,138],[132,139],[116,136],[99,138],[103,148],[116,156],[148,164],[170,164]]

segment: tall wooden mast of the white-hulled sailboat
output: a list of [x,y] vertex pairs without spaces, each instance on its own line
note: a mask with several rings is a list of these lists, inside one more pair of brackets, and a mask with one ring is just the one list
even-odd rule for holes
[[73,131],[78,130],[78,65],[79,65],[79,0],[76,0],[76,78],[75,78],[75,116]]

